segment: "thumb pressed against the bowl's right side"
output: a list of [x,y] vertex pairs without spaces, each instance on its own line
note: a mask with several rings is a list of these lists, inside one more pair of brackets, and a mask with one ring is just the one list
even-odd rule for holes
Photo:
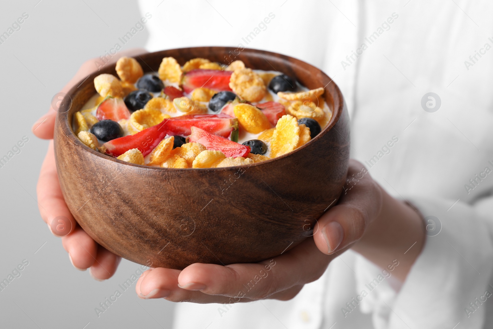
[[314,241],[326,255],[359,240],[382,209],[382,190],[360,162],[350,161],[348,180],[339,203],[323,214],[314,227]]

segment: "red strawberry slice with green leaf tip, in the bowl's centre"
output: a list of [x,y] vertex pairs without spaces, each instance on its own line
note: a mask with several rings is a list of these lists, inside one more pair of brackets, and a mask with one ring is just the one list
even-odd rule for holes
[[183,137],[191,134],[192,126],[224,138],[231,136],[232,141],[238,141],[238,119],[223,113],[181,115],[170,119],[167,123],[170,135]]

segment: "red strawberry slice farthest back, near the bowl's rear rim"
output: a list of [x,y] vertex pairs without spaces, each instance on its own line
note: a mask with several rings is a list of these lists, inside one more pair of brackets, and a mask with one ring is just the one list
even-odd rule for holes
[[217,91],[229,90],[229,79],[232,71],[203,70],[196,69],[189,71],[183,76],[182,87],[187,93],[191,93],[195,88],[209,88]]

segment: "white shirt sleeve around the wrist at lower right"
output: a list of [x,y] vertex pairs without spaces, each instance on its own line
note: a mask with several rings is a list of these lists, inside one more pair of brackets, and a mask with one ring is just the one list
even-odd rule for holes
[[360,256],[357,289],[369,292],[361,311],[372,313],[376,329],[483,328],[483,303],[493,292],[493,198],[452,207],[450,200],[407,200],[427,227],[422,253],[400,287]]

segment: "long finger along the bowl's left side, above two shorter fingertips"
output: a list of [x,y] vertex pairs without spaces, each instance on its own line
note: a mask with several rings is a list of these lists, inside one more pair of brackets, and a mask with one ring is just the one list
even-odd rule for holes
[[39,213],[41,218],[48,224],[50,231],[56,236],[68,235],[75,228],[76,221],[70,214],[60,189],[53,141],[48,146],[48,151],[41,166],[36,193]]

